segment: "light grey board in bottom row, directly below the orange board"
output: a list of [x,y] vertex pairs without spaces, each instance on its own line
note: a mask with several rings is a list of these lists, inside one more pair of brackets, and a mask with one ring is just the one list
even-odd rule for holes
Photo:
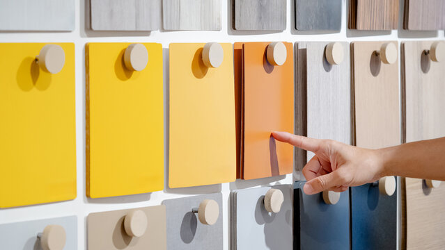
[[[269,213],[264,197],[271,188],[281,190],[279,213]],[[249,188],[231,192],[231,249],[292,249],[292,185]]]

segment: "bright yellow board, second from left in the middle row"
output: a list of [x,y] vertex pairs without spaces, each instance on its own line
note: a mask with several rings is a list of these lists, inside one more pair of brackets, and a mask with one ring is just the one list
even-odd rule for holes
[[130,43],[86,46],[86,195],[164,188],[162,45],[144,43],[148,64],[128,70]]

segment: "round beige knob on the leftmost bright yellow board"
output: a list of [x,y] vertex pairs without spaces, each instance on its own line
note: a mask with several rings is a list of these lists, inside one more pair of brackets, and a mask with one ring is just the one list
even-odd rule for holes
[[47,44],[36,57],[41,69],[51,74],[57,74],[65,65],[65,51],[57,44]]

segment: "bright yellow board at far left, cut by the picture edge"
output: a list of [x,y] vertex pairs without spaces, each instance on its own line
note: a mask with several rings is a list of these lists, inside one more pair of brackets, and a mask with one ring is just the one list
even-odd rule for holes
[[0,208],[76,197],[75,46],[42,71],[44,43],[0,43]]

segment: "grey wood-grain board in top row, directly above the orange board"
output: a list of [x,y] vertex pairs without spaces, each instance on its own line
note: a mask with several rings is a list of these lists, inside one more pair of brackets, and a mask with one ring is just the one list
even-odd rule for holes
[[233,28],[238,31],[284,31],[286,0],[231,0]]

